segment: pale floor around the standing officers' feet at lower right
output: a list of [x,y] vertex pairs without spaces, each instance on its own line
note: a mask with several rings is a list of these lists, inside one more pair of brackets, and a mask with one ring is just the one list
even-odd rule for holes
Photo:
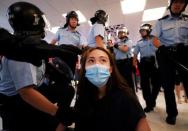
[[[183,95],[183,93],[181,92]],[[139,101],[144,107],[145,103],[142,98],[142,92],[137,92]],[[183,100],[183,97],[182,97]],[[168,125],[165,122],[165,101],[163,92],[160,92],[157,98],[157,105],[154,111],[147,113],[147,119],[152,131],[188,131],[188,103],[177,104],[179,115],[177,117],[176,125]],[[2,120],[0,119],[0,130],[2,130]]]

